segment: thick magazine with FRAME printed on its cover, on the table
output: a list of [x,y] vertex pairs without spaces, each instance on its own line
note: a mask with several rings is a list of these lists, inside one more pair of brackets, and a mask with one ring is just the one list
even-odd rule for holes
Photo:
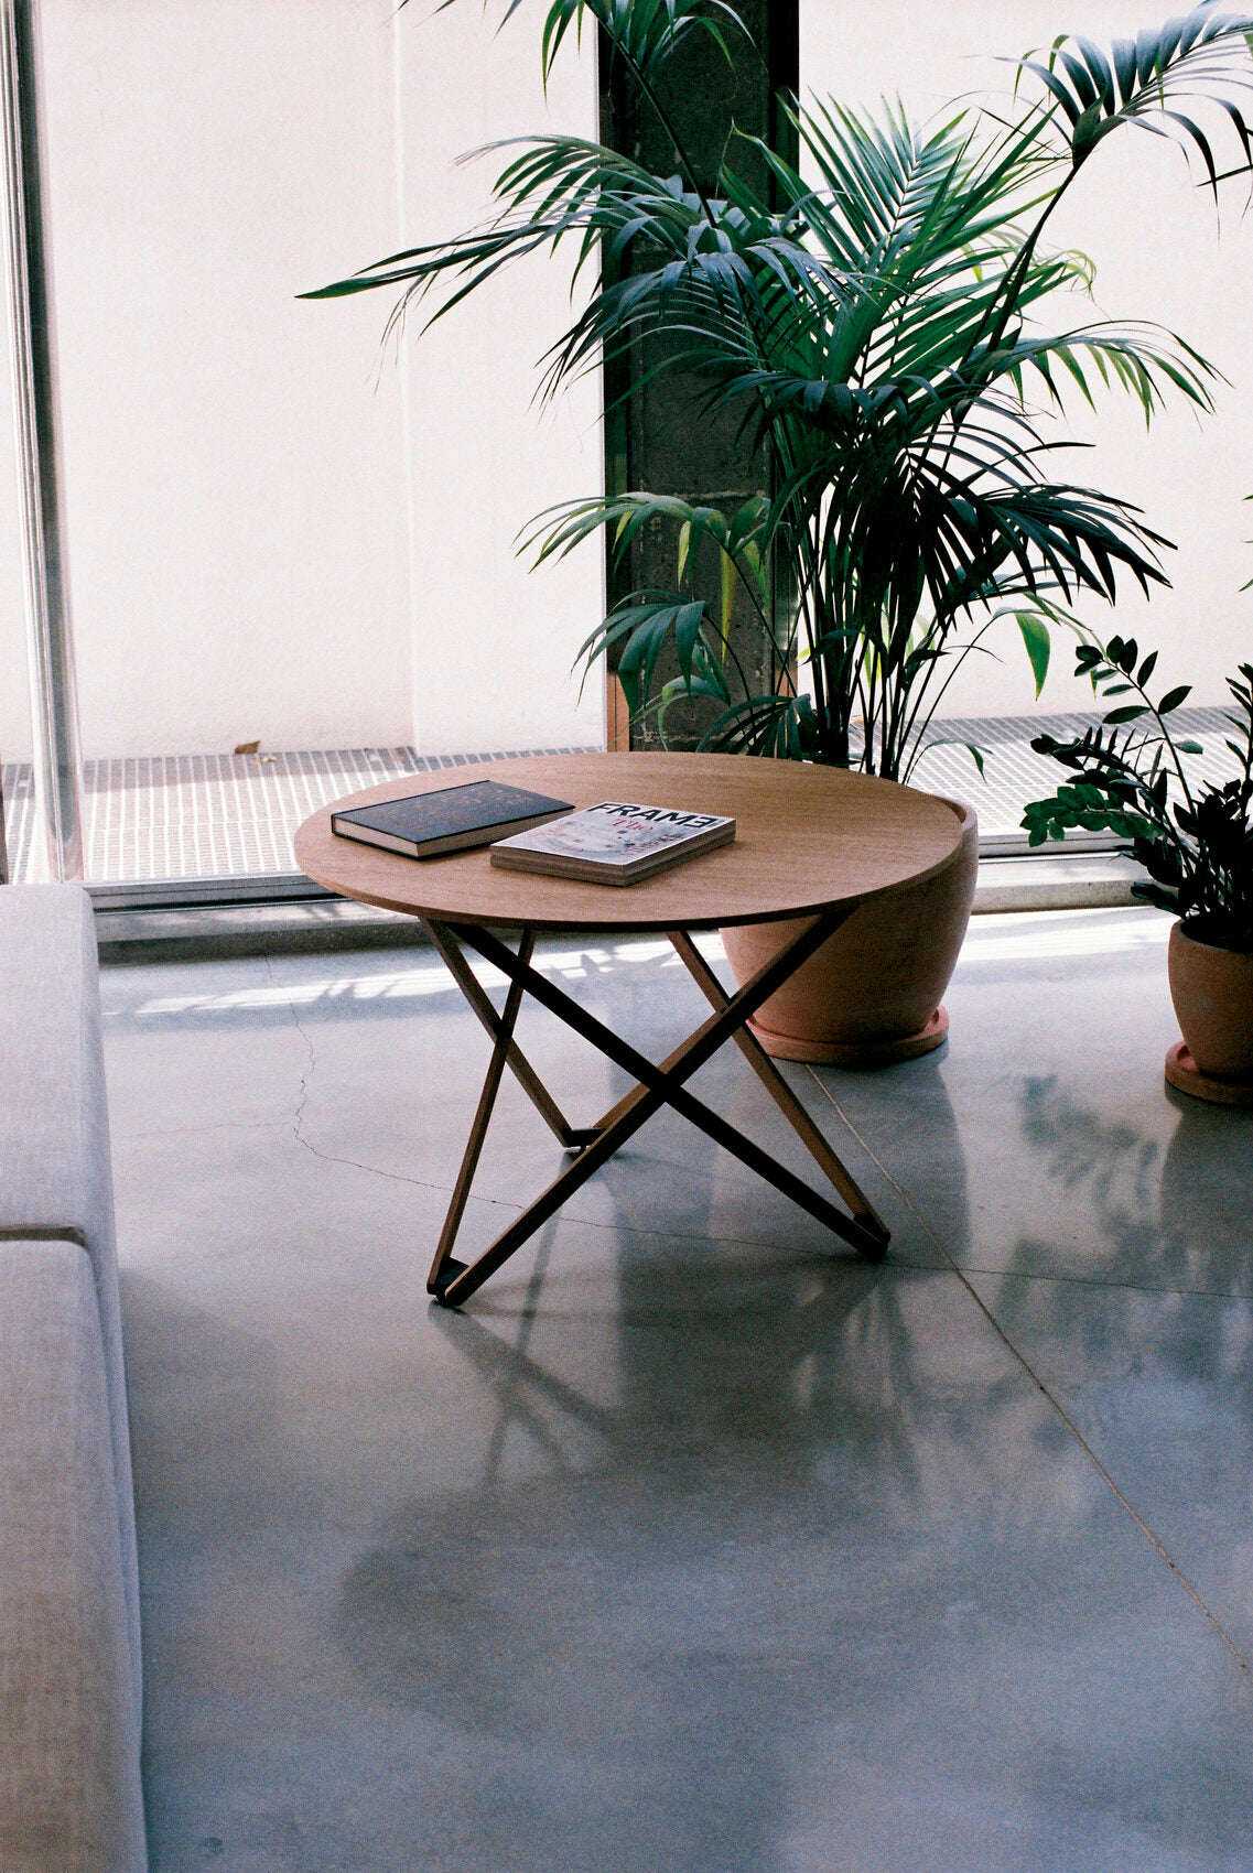
[[667,865],[699,858],[736,835],[736,822],[717,813],[646,807],[601,800],[539,832],[521,832],[493,845],[493,865],[539,871],[551,878],[592,884],[635,884]]

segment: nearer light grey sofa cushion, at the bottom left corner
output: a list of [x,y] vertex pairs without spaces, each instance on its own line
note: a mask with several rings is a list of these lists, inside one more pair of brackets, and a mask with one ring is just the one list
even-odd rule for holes
[[4,1873],[142,1873],[139,1746],[92,1264],[71,1242],[4,1242]]

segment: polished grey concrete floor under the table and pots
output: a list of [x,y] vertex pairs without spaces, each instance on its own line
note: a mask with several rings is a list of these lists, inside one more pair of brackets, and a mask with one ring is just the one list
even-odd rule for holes
[[[656,1056],[704,1013],[543,966]],[[980,918],[942,1053],[789,1069],[882,1268],[663,1116],[463,1313],[429,950],[103,995],[154,1873],[1253,1867],[1253,1114],[1163,1090],[1163,918]],[[506,1084],[470,1238],[558,1165]]]

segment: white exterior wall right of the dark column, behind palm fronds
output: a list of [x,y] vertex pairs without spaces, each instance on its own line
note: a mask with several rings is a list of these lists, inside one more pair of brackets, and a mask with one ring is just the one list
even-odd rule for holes
[[[845,0],[803,0],[802,75],[809,92],[871,107],[899,94],[914,112],[931,114],[961,92],[1004,94],[1008,67],[993,54],[1021,54],[1066,30],[1103,45],[1157,24],[1169,11],[1165,0],[1083,0],[1069,7],[1043,0],[878,0],[856,11]],[[1232,167],[1232,150],[1234,142],[1225,167]],[[1189,182],[1178,152],[1126,131],[1098,150],[1049,229],[1054,245],[1079,247],[1098,262],[1090,315],[1159,320],[1231,378],[1219,386],[1217,416],[1199,423],[1176,401],[1148,436],[1126,399],[1107,403],[1098,423],[1075,425],[1096,448],[1069,457],[1066,468],[1075,481],[1137,502],[1148,523],[1178,543],[1165,568],[1171,592],[1146,605],[1128,588],[1116,614],[1105,605],[1083,609],[1105,633],[1120,629],[1159,644],[1163,682],[1195,682],[1199,702],[1225,701],[1223,674],[1253,657],[1253,594],[1240,594],[1253,575],[1253,545],[1246,545],[1253,508],[1242,506],[1253,493],[1253,221],[1242,219],[1242,208],[1236,185],[1219,238],[1212,199]],[[1073,682],[1071,669],[1069,644],[1058,639],[1039,710],[1092,706],[1090,689]],[[1002,663],[980,657],[966,667],[948,712],[1028,714],[1032,706],[1026,659],[1006,639]]]

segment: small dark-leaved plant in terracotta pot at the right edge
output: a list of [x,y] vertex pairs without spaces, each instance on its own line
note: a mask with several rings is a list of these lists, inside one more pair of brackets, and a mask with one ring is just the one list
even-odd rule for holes
[[1189,687],[1152,702],[1156,663],[1156,652],[1141,661],[1135,639],[1079,644],[1079,674],[1107,699],[1129,701],[1081,736],[1032,742],[1075,777],[1034,800],[1023,826],[1032,845],[1075,828],[1128,841],[1148,873],[1133,893],[1178,918],[1169,972],[1184,1040],[1167,1054],[1167,1079],[1202,1099],[1253,1105],[1253,663],[1227,682],[1236,772],[1204,785],[1193,785],[1184,759],[1201,745],[1167,721]]

